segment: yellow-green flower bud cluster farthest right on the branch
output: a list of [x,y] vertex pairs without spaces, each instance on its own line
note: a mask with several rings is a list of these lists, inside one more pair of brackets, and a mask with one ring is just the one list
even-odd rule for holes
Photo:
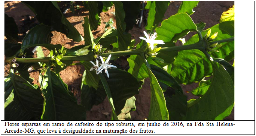
[[213,49],[213,48],[219,48],[221,47],[222,45],[221,44],[218,44],[218,43],[214,43],[214,44],[210,44],[209,42],[213,41],[217,35],[218,35],[218,32],[215,32],[213,35],[211,35],[211,29],[204,35],[204,41],[207,41],[209,46],[206,48],[206,50],[208,51],[212,51],[212,52],[219,52],[218,50],[216,49]]

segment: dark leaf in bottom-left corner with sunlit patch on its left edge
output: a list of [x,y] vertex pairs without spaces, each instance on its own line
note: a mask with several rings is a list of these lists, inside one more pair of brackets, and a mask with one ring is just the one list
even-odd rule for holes
[[38,119],[43,108],[42,93],[12,69],[9,75],[4,86],[4,120]]

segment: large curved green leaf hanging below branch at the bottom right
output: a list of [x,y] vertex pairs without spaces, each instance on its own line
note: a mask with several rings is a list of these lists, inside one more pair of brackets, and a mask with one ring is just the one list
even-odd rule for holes
[[207,92],[188,106],[186,120],[223,120],[234,107],[234,85],[224,67],[212,61],[213,79]]

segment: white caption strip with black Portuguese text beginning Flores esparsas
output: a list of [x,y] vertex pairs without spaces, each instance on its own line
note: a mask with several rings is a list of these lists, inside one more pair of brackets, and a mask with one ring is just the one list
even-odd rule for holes
[[[33,125],[40,123],[40,126],[29,126],[31,123]],[[1,121],[1,135],[253,135],[254,133],[255,121]]]

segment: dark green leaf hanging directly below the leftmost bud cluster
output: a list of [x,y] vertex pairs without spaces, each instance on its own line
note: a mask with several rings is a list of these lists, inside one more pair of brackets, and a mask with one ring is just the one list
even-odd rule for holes
[[84,107],[77,105],[67,85],[50,68],[43,76],[41,88],[45,97],[41,120],[86,120]]

